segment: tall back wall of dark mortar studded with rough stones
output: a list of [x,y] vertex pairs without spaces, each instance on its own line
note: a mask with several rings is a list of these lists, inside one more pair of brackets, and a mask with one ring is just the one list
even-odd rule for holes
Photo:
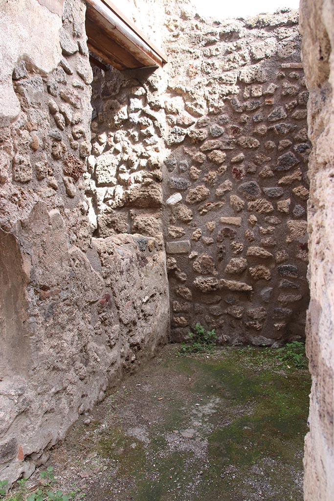
[[[182,19],[183,17],[183,19]],[[172,339],[304,336],[308,92],[297,13],[167,17],[164,221]]]

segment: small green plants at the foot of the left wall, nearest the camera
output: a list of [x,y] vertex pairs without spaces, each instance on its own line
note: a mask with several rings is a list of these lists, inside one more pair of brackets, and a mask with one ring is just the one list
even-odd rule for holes
[[[64,494],[62,490],[55,490],[54,484],[57,483],[53,467],[48,466],[45,471],[40,473],[43,485],[35,492],[29,493],[27,479],[18,480],[18,490],[15,493],[6,494],[8,480],[0,480],[0,500],[3,501],[71,501],[76,497],[80,489],[75,489],[71,494]],[[80,496],[81,498],[83,495]]]

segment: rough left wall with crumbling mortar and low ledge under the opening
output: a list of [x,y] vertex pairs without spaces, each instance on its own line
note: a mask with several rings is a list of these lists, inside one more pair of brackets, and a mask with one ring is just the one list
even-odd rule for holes
[[[51,3],[41,4],[45,12]],[[13,23],[29,38],[26,22]],[[52,73],[19,57],[12,86],[20,114],[1,129],[0,478],[10,481],[43,462],[124,370],[152,356],[169,325],[161,241],[93,237],[83,1],[65,2],[57,36],[62,55]]]

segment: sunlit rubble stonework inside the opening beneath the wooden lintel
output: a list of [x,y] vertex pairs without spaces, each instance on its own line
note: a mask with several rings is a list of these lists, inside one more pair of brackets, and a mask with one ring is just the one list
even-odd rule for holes
[[94,70],[92,152],[85,177],[100,237],[129,232],[163,241],[161,102],[167,81],[163,72],[150,73]]

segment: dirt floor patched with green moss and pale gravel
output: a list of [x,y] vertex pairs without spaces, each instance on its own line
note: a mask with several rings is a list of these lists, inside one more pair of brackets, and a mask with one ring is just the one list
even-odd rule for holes
[[[53,451],[89,501],[301,501],[309,374],[275,350],[169,345]],[[77,490],[76,490],[77,489]]]

